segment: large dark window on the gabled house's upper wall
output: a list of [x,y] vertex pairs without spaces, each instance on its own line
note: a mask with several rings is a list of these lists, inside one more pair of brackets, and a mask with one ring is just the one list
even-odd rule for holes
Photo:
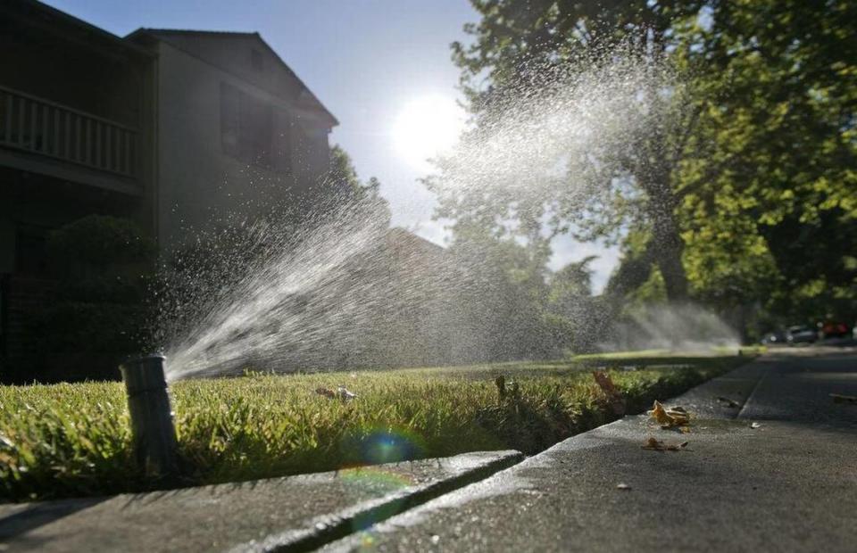
[[270,167],[273,110],[227,83],[220,83],[220,143],[241,161]]

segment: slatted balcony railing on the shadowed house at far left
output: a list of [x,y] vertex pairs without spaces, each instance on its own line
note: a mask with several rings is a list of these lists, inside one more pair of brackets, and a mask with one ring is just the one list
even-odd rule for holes
[[0,87],[0,146],[137,176],[136,129],[6,87]]

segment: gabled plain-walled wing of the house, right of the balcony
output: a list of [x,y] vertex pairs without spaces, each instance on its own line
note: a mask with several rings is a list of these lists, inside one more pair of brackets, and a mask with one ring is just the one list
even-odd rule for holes
[[328,169],[336,118],[258,33],[138,29],[126,41],[155,59],[161,243],[287,204]]

